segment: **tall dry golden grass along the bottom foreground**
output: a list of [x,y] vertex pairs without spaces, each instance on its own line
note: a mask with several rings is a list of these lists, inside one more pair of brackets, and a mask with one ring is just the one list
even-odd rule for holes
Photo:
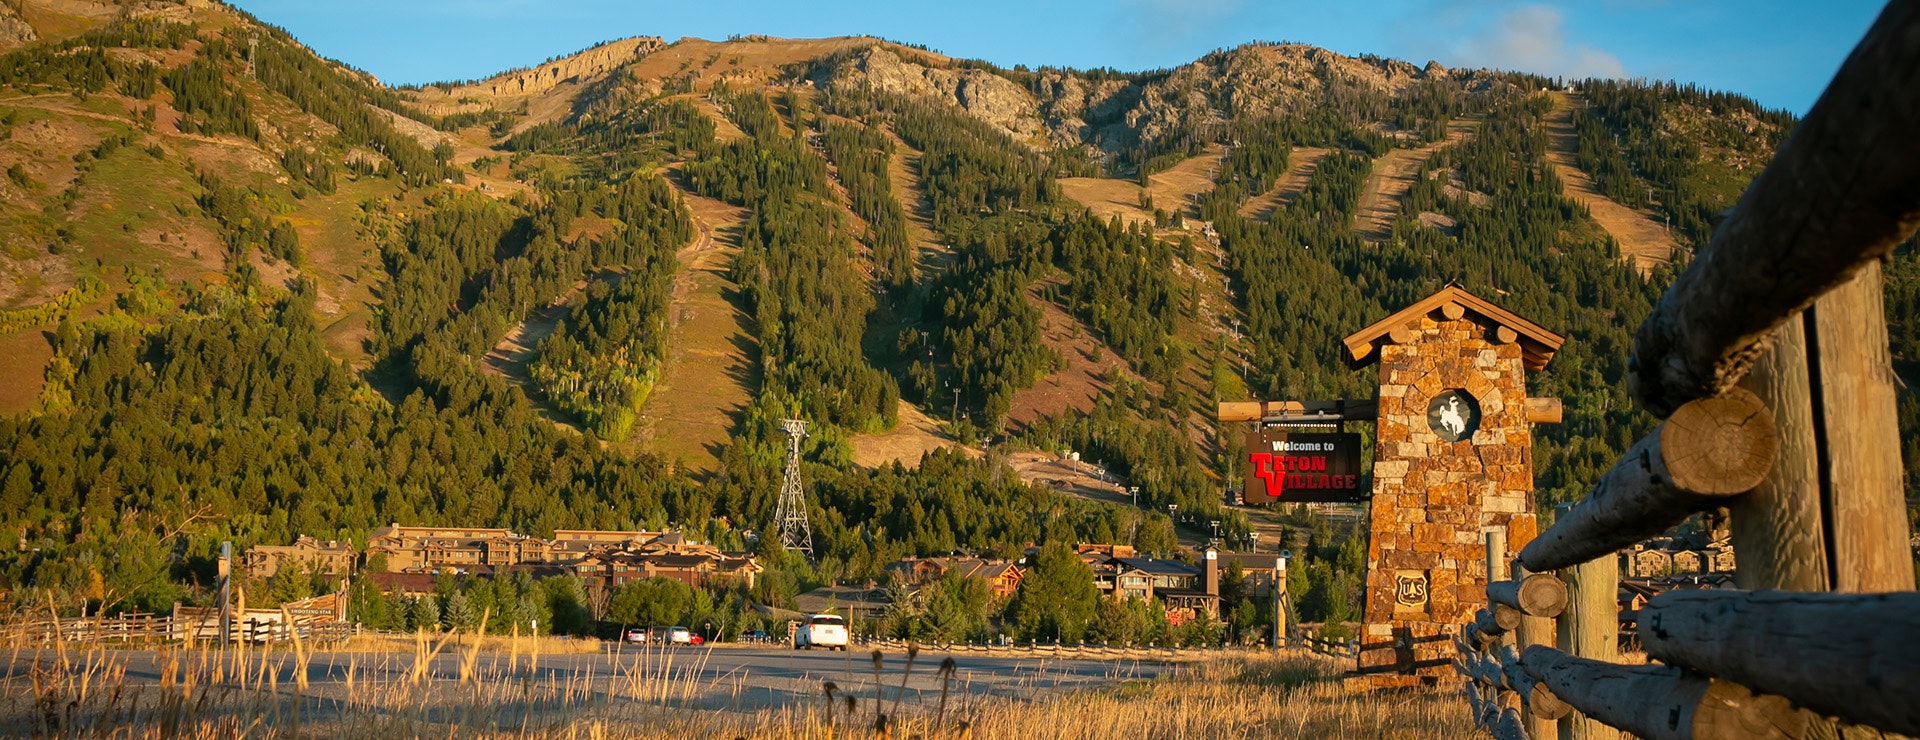
[[1457,694],[1350,694],[1338,680],[1348,661],[1306,652],[1221,654],[1150,680],[1116,667],[1098,688],[1079,690],[1050,688],[1062,675],[1029,669],[1020,682],[989,692],[968,686],[950,661],[916,655],[924,659],[889,671],[876,659],[872,677],[847,686],[785,680],[781,688],[795,700],[764,705],[766,692],[762,700],[743,694],[739,671],[707,671],[707,650],[618,648],[555,661],[545,646],[507,638],[505,652],[488,652],[482,648],[497,644],[419,634],[390,652],[300,642],[257,650],[15,648],[0,732],[363,740],[1457,740],[1473,732]]

